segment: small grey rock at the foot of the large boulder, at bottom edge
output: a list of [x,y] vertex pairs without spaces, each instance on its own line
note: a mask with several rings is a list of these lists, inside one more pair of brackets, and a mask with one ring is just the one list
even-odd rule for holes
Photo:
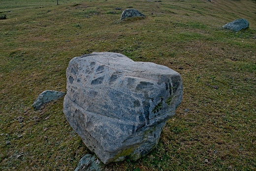
[[92,156],[91,154],[86,154],[84,155],[75,171],[101,171],[101,167],[100,167],[100,161],[98,159],[96,159],[95,156]]

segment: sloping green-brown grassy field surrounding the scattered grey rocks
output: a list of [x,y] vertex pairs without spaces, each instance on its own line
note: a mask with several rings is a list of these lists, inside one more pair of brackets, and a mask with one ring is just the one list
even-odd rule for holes
[[[146,18],[120,22],[127,8]],[[1,0],[4,14],[0,170],[73,171],[90,153],[66,121],[63,99],[40,111],[32,103],[46,89],[66,91],[71,58],[101,51],[168,66],[184,84],[158,146],[104,170],[256,170],[254,0]],[[250,28],[222,29],[239,18]]]

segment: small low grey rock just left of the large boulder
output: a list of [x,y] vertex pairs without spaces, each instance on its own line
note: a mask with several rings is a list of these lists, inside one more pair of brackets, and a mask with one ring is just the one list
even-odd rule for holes
[[38,95],[32,106],[34,107],[34,109],[39,110],[44,104],[54,100],[58,100],[64,95],[65,93],[62,91],[45,90]]

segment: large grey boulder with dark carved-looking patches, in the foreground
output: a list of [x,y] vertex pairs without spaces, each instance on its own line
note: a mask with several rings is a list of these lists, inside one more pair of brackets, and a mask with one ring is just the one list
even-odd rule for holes
[[182,100],[179,73],[118,53],[74,57],[66,78],[65,117],[104,164],[148,154]]

